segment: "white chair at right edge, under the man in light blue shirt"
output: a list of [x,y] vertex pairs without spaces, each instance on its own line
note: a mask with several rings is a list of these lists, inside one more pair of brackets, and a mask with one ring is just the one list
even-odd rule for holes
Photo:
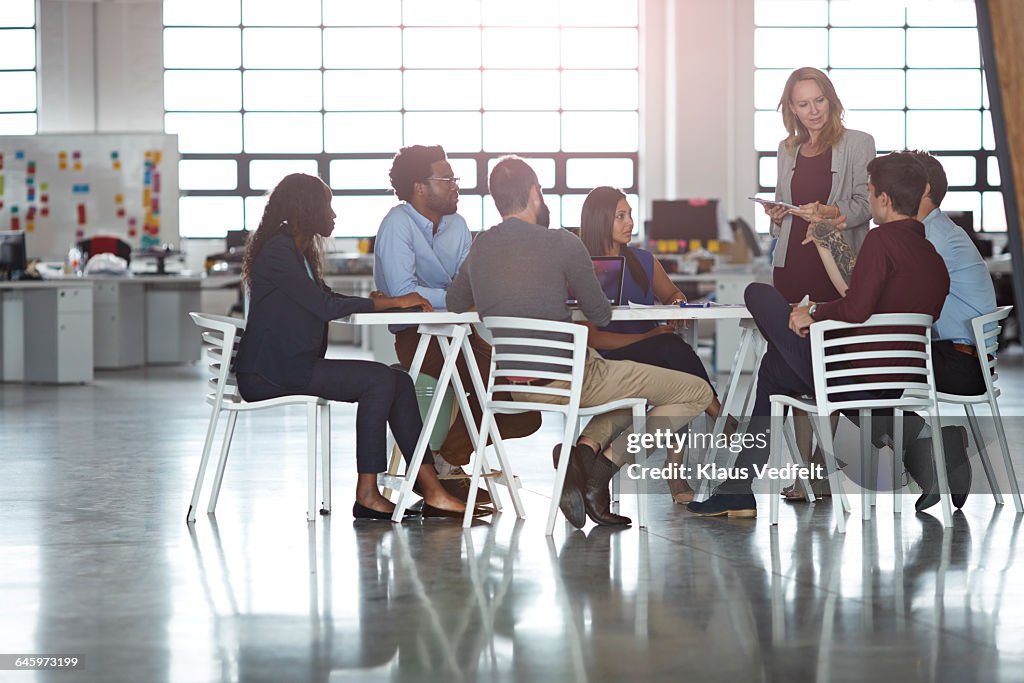
[[[988,403],[988,409],[992,413],[992,422],[995,423],[995,434],[999,439],[999,447],[1002,451],[1002,463],[1007,469],[1007,476],[1010,478],[1010,490],[1014,497],[1014,506],[1017,512],[1024,512],[1021,504],[1020,486],[1017,483],[1017,475],[1014,473],[1014,463],[1010,458],[1010,445],[1007,442],[1007,433],[1002,428],[1002,415],[999,413],[999,389],[995,386],[999,379],[995,372],[996,352],[999,348],[999,332],[1002,328],[999,323],[1007,319],[1013,306],[1000,306],[987,315],[979,315],[971,321],[971,328],[974,332],[974,347],[978,351],[978,362],[981,365],[981,376],[985,379],[985,393],[977,396],[961,396],[952,393],[936,393],[940,403],[955,403],[963,405],[967,413],[968,422],[971,425],[971,433],[974,435],[974,442],[978,446],[981,456],[981,464],[985,469],[985,476],[988,477],[992,496],[998,505],[1002,505],[1002,495],[999,493],[999,485],[992,471],[992,463],[988,459],[988,452],[981,436],[981,428],[978,425],[978,417],[974,413],[974,407],[979,403]],[[989,328],[986,330],[985,328]]]

